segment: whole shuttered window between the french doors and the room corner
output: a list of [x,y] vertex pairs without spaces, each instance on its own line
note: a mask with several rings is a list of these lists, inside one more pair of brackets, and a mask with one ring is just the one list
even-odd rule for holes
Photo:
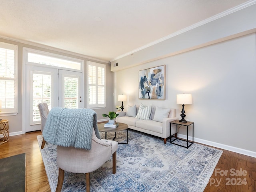
[[106,107],[106,66],[87,61],[87,107]]

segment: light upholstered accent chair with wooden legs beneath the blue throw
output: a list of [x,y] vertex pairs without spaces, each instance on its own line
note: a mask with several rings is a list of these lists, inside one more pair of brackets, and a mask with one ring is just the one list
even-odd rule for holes
[[97,138],[92,129],[92,148],[84,150],[74,147],[62,147],[57,145],[57,165],[59,167],[59,178],[56,192],[60,192],[64,171],[72,173],[86,173],[86,192],[90,192],[90,172],[100,168],[112,155],[113,174],[116,174],[116,150],[118,142]]

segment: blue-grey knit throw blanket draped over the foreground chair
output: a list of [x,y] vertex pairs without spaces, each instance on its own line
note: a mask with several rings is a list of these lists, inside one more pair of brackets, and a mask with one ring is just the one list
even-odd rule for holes
[[93,128],[100,139],[94,110],[54,107],[48,114],[43,137],[46,142],[54,145],[90,150]]

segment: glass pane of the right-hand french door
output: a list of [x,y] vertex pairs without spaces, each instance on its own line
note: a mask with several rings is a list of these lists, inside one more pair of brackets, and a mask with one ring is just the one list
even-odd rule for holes
[[64,107],[78,108],[78,78],[64,77]]

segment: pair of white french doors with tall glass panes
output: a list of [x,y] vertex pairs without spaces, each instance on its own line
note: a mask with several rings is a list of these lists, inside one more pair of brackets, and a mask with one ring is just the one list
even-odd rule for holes
[[49,110],[82,108],[82,72],[30,65],[25,70],[25,132],[41,129],[40,102],[46,102]]

